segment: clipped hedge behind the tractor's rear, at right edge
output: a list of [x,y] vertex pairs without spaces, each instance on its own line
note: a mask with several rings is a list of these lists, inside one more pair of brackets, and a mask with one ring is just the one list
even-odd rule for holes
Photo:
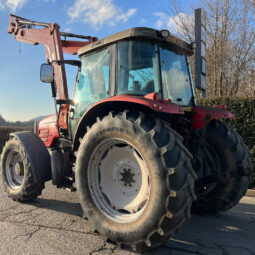
[[[199,99],[200,105],[225,104],[235,119],[225,120],[237,133],[239,133],[250,150],[250,156],[255,166],[255,97],[225,97]],[[255,168],[255,167],[254,167]],[[253,175],[253,188],[255,188],[255,172]]]

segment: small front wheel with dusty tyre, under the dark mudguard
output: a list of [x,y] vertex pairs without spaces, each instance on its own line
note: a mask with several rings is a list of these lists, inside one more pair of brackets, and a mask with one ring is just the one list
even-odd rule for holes
[[35,183],[26,151],[15,137],[3,148],[1,176],[6,193],[15,201],[31,201],[41,195],[44,188]]

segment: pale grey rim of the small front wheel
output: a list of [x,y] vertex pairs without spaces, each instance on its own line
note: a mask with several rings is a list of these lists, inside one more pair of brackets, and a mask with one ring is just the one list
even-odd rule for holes
[[9,152],[6,158],[4,173],[7,184],[11,188],[18,189],[22,185],[24,179],[24,165],[18,152]]

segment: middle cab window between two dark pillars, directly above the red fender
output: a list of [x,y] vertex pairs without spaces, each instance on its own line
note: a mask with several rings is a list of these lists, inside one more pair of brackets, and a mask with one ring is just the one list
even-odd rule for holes
[[118,94],[147,95],[160,91],[157,44],[149,41],[118,43]]

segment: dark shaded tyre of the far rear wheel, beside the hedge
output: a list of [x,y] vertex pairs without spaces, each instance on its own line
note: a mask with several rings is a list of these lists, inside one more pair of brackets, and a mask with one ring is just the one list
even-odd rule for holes
[[214,161],[214,181],[209,187],[196,186],[193,209],[201,214],[229,210],[247,191],[252,175],[249,151],[231,127],[213,120],[207,128],[206,153],[207,164]]

